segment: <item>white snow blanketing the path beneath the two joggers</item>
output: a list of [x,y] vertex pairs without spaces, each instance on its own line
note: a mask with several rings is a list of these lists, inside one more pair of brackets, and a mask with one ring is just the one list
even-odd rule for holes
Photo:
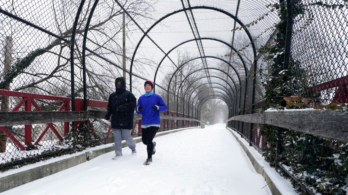
[[[136,156],[131,155],[131,150],[125,147],[120,159],[112,160],[114,152],[109,152],[0,194],[271,195],[266,181],[256,173],[225,124],[187,129],[155,137],[154,141],[157,143],[156,154],[152,156],[153,162],[149,166],[143,165],[147,153],[146,146],[140,142],[136,144]],[[243,138],[240,141],[248,145]],[[279,190],[283,194],[296,194],[290,181],[269,167],[261,154],[250,146],[248,150],[265,170],[268,169],[273,183],[280,185]],[[0,174],[0,177],[69,156],[10,170]]]

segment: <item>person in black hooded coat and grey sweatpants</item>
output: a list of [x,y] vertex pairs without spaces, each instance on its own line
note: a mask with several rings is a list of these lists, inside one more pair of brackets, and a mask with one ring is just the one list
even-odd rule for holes
[[132,92],[126,90],[126,79],[118,77],[115,80],[116,92],[109,96],[108,111],[105,120],[111,116],[111,128],[113,129],[114,147],[116,156],[113,160],[122,156],[122,136],[132,154],[136,155],[135,143],[131,135],[133,129],[134,109],[136,107],[136,97]]

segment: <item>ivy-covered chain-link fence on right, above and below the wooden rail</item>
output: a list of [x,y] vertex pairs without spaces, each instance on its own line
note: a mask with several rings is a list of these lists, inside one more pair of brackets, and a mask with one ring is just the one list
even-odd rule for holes
[[[346,111],[347,1],[280,1],[270,7],[279,20],[270,39],[258,47],[255,89],[247,87],[246,93],[255,94],[255,104],[248,99],[247,110],[236,115],[269,108]],[[344,121],[346,115],[341,117]],[[251,126],[242,121],[229,124],[272,165],[292,176],[303,193],[346,194],[346,142],[269,125]],[[343,124],[340,127],[345,128]],[[335,127],[330,130],[337,131]]]

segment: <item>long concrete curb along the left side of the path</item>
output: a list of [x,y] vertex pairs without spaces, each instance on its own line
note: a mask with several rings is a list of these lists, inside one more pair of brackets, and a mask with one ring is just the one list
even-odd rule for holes
[[[188,127],[188,128],[181,128],[176,130],[169,130],[165,132],[159,132],[156,134],[155,137],[167,135],[171,133],[176,133],[176,132],[180,132],[182,130],[191,129],[191,128],[199,128],[199,127]],[[141,137],[134,138],[134,142],[135,143],[141,142]],[[122,147],[127,147],[126,142],[122,143]],[[103,149],[96,149],[96,150],[92,149],[90,151],[73,156],[71,158],[59,160],[53,163],[45,164],[40,167],[35,167],[32,169],[14,173],[13,175],[0,177],[0,193],[5,192],[6,190],[9,190],[9,189],[15,188],[17,186],[29,183],[31,181],[52,175],[59,171],[63,171],[65,169],[69,169],[71,167],[77,166],[81,163],[84,163],[88,160],[94,159],[97,156],[100,156],[102,154],[105,154],[111,151],[114,151],[114,146],[105,147]]]

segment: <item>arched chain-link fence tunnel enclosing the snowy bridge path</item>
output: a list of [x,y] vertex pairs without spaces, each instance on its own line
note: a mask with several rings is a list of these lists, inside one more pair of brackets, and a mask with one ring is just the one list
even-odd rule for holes
[[[11,150],[23,151],[45,136],[61,140],[86,120],[106,129],[92,129],[93,136],[108,140],[107,122],[90,111],[105,110],[114,79],[125,76],[137,97],[145,80],[155,82],[170,109],[161,129],[205,122],[203,104],[219,99],[228,107],[227,126],[262,150],[267,144],[255,129],[267,116],[260,112],[284,103],[283,97],[301,95],[313,107],[345,109],[347,18],[347,2],[333,0],[1,2],[1,112],[61,113],[33,114],[47,122],[42,127],[33,123],[38,119],[26,124],[4,114],[0,137],[7,137]],[[304,102],[285,108],[311,107]],[[64,111],[95,118],[79,116],[69,127],[57,119]]]

